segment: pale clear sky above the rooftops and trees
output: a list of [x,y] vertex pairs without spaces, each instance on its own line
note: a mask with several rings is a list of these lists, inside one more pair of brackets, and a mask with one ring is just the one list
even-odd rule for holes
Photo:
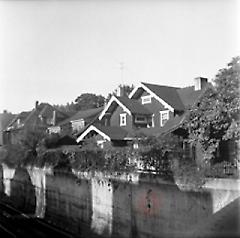
[[239,12],[237,0],[1,0],[0,112],[212,80],[240,55]]

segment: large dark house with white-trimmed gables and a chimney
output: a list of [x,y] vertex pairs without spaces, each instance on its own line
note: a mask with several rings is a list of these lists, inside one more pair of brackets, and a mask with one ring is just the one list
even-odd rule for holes
[[198,77],[191,87],[140,83],[129,97],[122,96],[120,90],[120,95],[112,96],[100,113],[98,125],[87,127],[79,134],[77,142],[94,135],[101,142],[125,145],[140,134],[158,136],[175,131],[183,122],[188,109],[209,86],[206,78]]

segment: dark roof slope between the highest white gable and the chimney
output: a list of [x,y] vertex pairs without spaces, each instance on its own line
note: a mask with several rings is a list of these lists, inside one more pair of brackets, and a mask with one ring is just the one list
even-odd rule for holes
[[184,105],[177,92],[179,88],[161,86],[161,85],[150,84],[150,83],[142,83],[142,84],[147,88],[149,88],[159,98],[163,99],[167,104],[169,104],[175,110],[178,110],[178,111],[184,110]]

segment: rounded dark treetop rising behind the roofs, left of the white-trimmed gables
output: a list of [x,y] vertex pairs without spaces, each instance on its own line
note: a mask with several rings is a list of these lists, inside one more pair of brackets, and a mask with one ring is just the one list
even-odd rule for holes
[[75,99],[75,102],[77,110],[87,110],[102,107],[105,103],[105,98],[102,95],[83,93]]

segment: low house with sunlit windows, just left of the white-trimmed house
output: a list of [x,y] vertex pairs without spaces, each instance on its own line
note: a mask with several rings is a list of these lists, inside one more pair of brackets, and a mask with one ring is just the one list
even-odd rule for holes
[[72,117],[61,121],[57,125],[48,127],[48,133],[58,133],[61,135],[75,135],[81,132],[87,125],[97,119],[102,107],[81,110]]

